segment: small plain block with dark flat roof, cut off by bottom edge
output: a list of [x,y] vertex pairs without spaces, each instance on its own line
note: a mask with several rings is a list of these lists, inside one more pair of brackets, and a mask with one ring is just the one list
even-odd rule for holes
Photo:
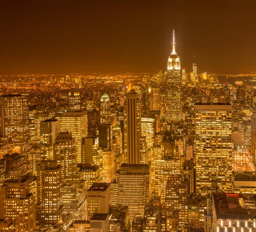
[[109,232],[109,215],[94,214],[90,218],[90,232]]

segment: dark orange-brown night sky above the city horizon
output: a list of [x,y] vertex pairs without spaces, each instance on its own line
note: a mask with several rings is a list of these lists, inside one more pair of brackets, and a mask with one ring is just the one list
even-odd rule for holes
[[0,0],[0,74],[256,72],[255,2]]

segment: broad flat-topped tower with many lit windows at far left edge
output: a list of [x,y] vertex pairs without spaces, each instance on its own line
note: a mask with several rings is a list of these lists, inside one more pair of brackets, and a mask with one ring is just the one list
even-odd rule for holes
[[11,139],[14,152],[26,154],[29,142],[28,100],[20,94],[0,97],[1,137]]

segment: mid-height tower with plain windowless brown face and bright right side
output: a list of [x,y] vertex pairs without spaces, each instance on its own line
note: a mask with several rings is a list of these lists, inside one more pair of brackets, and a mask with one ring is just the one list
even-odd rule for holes
[[82,138],[81,163],[93,164],[93,157],[99,148],[99,137]]

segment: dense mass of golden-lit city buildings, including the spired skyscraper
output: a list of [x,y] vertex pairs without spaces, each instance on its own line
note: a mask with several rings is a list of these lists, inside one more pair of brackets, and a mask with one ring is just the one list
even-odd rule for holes
[[175,38],[119,78],[0,96],[0,231],[256,231],[254,87],[186,73]]

